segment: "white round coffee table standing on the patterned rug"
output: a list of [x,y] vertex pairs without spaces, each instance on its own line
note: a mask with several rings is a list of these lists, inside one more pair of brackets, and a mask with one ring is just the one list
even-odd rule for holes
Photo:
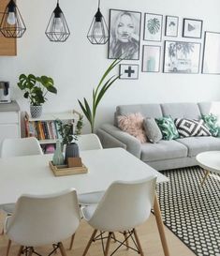
[[207,151],[199,153],[196,160],[198,165],[206,171],[201,183],[202,185],[210,172],[220,173],[220,151]]

